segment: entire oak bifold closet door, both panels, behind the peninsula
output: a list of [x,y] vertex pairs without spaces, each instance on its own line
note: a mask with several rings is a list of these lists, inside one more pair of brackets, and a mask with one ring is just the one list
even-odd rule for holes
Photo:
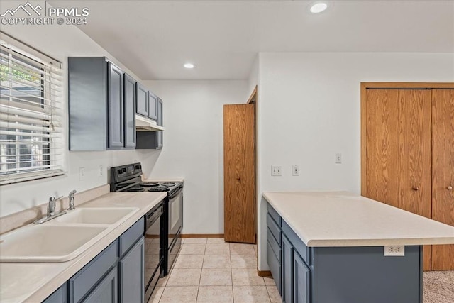
[[[454,226],[454,89],[362,94],[362,195]],[[454,246],[424,246],[423,269],[453,270]]]

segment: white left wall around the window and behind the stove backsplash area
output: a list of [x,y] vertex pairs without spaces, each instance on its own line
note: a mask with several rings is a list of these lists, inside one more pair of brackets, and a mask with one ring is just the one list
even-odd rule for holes
[[[16,4],[15,4],[16,5]],[[130,70],[121,65],[113,56],[96,44],[75,26],[1,26],[1,31],[14,38],[32,45],[63,64],[62,75],[67,75],[67,57],[69,56],[106,56],[126,72],[138,79]],[[66,79],[65,79],[66,81]],[[67,92],[62,92],[65,116],[67,116]],[[67,126],[67,121],[64,121]],[[67,133],[65,133],[65,136]],[[69,152],[65,139],[65,162],[67,175],[42,180],[2,185],[0,188],[0,216],[13,214],[23,209],[48,202],[48,197],[67,195],[72,189],[78,192],[106,184],[107,167],[128,164],[135,160],[148,160],[155,152],[148,151],[105,151],[105,152]],[[104,175],[98,177],[99,165],[104,167]],[[79,180],[79,167],[85,167],[86,177]],[[145,165],[145,173],[151,166]]]

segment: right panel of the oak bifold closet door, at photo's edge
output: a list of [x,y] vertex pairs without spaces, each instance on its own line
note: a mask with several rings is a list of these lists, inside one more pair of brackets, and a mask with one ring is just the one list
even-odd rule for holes
[[[432,219],[454,226],[454,89],[432,90]],[[454,245],[432,246],[432,270],[454,270]]]

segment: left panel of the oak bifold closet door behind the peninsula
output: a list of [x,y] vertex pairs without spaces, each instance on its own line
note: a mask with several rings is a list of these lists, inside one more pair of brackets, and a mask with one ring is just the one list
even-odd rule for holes
[[[431,91],[367,89],[365,111],[362,195],[430,218]],[[427,246],[424,270],[430,267]]]

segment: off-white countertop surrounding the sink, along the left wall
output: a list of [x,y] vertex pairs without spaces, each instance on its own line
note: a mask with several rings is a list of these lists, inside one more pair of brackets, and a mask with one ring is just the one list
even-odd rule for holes
[[[70,261],[0,263],[0,301],[2,303],[43,301],[166,195],[165,192],[111,192],[78,206],[79,208],[138,207],[139,211]],[[57,239],[55,239],[55,245],[58,245]]]

